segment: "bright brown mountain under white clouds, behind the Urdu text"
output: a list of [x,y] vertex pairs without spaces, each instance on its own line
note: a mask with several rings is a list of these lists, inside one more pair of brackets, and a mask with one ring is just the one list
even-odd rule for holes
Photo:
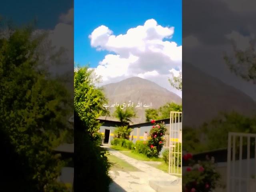
[[[146,121],[145,109],[148,108],[159,108],[167,102],[175,102],[177,104],[182,103],[182,99],[177,94],[170,92],[166,88],[159,86],[158,84],[149,80],[132,77],[122,80],[117,83],[110,83],[102,86],[106,97],[108,98],[108,105],[112,104],[126,104],[132,102],[134,107],[137,106],[138,102],[142,103],[142,106],[136,108],[136,114],[138,118],[133,118],[133,124],[142,123]],[[143,105],[150,107],[143,107]],[[114,112],[114,107],[109,107],[110,113]],[[104,118],[105,117],[101,117]],[[116,120],[112,117],[107,117],[108,120]]]

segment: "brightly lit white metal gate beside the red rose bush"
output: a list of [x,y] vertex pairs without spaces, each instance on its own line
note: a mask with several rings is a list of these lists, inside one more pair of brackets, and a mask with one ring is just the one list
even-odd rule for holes
[[169,173],[182,175],[182,112],[170,112],[169,137]]

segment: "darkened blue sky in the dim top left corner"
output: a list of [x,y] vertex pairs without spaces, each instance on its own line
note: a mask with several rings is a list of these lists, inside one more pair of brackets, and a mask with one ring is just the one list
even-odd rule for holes
[[72,0],[5,0],[1,1],[0,16],[12,20],[15,26],[28,24],[36,19],[37,28],[53,29],[59,22],[60,15],[72,7]]

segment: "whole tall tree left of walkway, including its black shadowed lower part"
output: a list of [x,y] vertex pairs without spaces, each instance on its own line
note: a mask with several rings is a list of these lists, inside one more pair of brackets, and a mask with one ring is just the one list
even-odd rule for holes
[[[76,177],[74,190],[108,191],[110,177],[109,164],[103,150],[98,145],[101,137],[97,120],[104,113],[103,104],[107,102],[102,90],[96,88],[98,81],[94,71],[88,66],[76,68],[74,72],[74,118],[75,118],[75,157]],[[85,179],[86,178],[86,179]],[[100,183],[100,185],[99,185]]]

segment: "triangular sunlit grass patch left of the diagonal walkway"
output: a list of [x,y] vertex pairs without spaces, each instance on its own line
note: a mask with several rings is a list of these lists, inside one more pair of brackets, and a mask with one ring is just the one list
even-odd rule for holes
[[107,155],[108,162],[110,163],[110,170],[113,171],[140,171],[136,167],[132,166],[131,164],[128,164],[124,160],[114,156],[114,155]]

